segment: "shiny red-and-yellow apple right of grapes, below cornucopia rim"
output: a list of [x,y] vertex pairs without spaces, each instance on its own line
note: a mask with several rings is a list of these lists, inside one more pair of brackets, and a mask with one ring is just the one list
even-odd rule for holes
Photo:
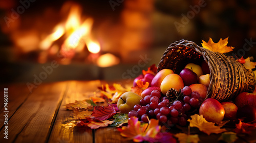
[[224,118],[225,110],[216,99],[206,99],[199,108],[199,114],[208,122],[220,122]]

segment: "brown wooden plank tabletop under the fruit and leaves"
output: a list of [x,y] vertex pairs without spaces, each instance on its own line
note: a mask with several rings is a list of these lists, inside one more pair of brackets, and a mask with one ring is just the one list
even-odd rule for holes
[[[99,80],[42,83],[31,93],[26,84],[1,85],[2,93],[5,87],[8,88],[8,108],[4,108],[2,94],[0,142],[133,142],[120,136],[114,127],[92,130],[66,124],[73,119],[70,116],[72,111],[66,110],[65,105],[75,100],[88,99],[98,86],[105,83]],[[6,113],[8,139],[4,138]],[[218,137],[202,133],[200,139],[202,142],[217,142]],[[245,136],[237,142],[255,142],[255,138],[253,135]]]

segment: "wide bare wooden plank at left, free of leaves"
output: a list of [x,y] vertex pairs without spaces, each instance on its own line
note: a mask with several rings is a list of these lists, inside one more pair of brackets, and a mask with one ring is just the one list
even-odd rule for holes
[[67,82],[39,85],[10,118],[8,142],[45,142],[66,85]]

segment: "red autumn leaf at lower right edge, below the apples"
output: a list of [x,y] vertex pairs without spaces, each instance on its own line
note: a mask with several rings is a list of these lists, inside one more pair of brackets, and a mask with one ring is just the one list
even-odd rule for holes
[[254,130],[256,128],[256,123],[250,124],[250,123],[244,123],[241,122],[241,120],[239,119],[239,123],[236,124],[236,129],[234,129],[234,131],[237,134],[250,134],[252,130]]

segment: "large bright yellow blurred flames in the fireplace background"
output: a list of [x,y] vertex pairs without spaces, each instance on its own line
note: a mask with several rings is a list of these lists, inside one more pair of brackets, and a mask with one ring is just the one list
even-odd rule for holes
[[[61,47],[63,47],[61,49],[62,51],[82,51],[84,46],[86,45],[85,41],[87,41],[91,36],[90,34],[93,25],[93,19],[86,18],[85,20],[83,20],[81,16],[81,11],[82,10],[79,5],[71,6],[67,20],[59,23],[54,28],[54,32],[40,42],[40,49],[49,49],[54,41],[58,40],[62,36],[65,36],[67,38],[61,45]],[[93,45],[93,47],[94,50],[92,50],[92,53],[98,53],[99,47],[96,47],[95,45]]]

